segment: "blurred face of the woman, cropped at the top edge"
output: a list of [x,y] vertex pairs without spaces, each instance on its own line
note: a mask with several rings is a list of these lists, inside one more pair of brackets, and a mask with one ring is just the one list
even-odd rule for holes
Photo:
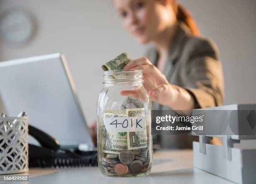
[[154,41],[174,19],[165,0],[114,0],[123,25],[140,43]]

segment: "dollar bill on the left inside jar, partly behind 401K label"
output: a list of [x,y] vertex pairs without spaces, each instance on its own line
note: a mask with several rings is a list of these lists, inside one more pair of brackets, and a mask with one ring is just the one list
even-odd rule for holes
[[[104,113],[104,118],[111,118],[111,117],[125,117],[126,115],[116,112],[106,112]],[[108,133],[105,125],[103,124],[103,137],[104,137],[104,153],[112,153],[112,154],[119,154],[122,150],[128,149],[127,144],[127,132],[115,132],[115,133]]]

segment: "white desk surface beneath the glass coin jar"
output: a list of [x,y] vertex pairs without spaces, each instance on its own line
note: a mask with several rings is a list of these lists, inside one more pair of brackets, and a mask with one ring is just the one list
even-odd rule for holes
[[[28,182],[8,182],[28,183]],[[102,176],[98,167],[30,169],[30,184],[233,184],[193,167],[192,150],[157,151],[148,176],[114,178]]]

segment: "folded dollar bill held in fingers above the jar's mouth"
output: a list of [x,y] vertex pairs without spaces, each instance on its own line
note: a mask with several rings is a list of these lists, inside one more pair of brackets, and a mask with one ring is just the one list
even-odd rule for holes
[[103,64],[101,67],[104,71],[121,70],[130,61],[130,56],[126,52],[124,52],[119,56],[116,56],[114,59],[108,61],[106,64]]

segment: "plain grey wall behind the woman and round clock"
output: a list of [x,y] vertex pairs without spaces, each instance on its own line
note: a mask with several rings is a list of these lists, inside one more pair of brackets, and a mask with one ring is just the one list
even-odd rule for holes
[[[205,36],[217,43],[225,75],[225,104],[256,103],[256,1],[180,0]],[[77,86],[88,123],[96,119],[102,69],[123,51],[143,56],[140,46],[120,26],[111,0],[0,0],[30,10],[37,20],[34,38],[23,47],[0,42],[0,61],[63,52]]]

